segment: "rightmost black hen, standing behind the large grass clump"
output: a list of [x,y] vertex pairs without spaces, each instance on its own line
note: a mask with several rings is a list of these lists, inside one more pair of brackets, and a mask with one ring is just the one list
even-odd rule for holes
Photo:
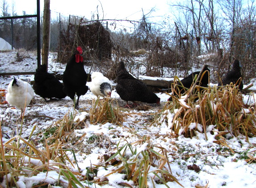
[[240,62],[239,60],[235,60],[234,63],[232,64],[232,69],[227,72],[222,81],[219,82],[218,86],[221,85],[229,85],[230,83],[233,84],[238,84],[238,88],[240,89],[240,91],[242,91],[244,85],[243,85],[243,81],[242,81],[242,74],[241,74],[241,68],[240,68]]

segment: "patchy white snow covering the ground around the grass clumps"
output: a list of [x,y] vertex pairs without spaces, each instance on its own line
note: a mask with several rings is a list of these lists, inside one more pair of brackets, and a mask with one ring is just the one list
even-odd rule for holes
[[[24,62],[20,64],[15,62],[16,52],[1,52],[0,53],[0,72],[5,72],[6,68],[10,72],[16,72],[16,70],[22,71],[35,71],[37,66],[35,54],[29,54],[30,57],[24,58]],[[65,65],[55,63],[53,60],[53,54],[49,56],[49,68],[50,71],[63,72]],[[28,64],[28,66],[26,66]],[[23,65],[23,67],[22,67]],[[24,68],[25,65],[25,68]],[[89,69],[89,68],[88,68]],[[88,70],[86,69],[86,70]],[[30,78],[33,80],[33,75],[28,76],[18,76],[20,79]],[[141,79],[155,79],[147,76],[140,76]],[[159,78],[157,78],[159,79]],[[161,78],[163,79],[163,78]],[[12,77],[6,76],[0,77],[0,88],[7,89],[9,82],[12,80]],[[252,80],[251,83],[255,83],[256,80]],[[88,83],[89,85],[90,83]],[[214,83],[210,84],[215,85]],[[246,87],[246,86],[245,86]],[[215,130],[215,125],[210,125],[207,127],[207,139],[205,135],[200,133],[202,131],[202,125],[191,123],[189,128],[197,130],[197,136],[193,138],[185,138],[182,135],[183,130],[180,129],[179,136],[173,136],[170,130],[173,126],[173,118],[175,113],[179,109],[175,109],[174,113],[170,111],[167,112],[167,122],[163,122],[160,125],[151,125],[149,126],[149,117],[152,116],[155,112],[158,112],[163,109],[163,106],[166,104],[167,99],[170,97],[166,93],[157,93],[158,97],[161,99],[161,106],[157,107],[150,105],[149,110],[139,111],[137,109],[123,109],[122,112],[126,114],[124,116],[124,122],[122,126],[106,123],[106,124],[90,124],[88,120],[89,113],[87,112],[78,112],[73,109],[73,101],[69,97],[65,97],[62,100],[45,102],[40,96],[34,96],[33,104],[29,105],[26,108],[25,115],[30,115],[24,120],[22,137],[28,139],[30,136],[33,127],[36,125],[36,132],[41,132],[53,125],[57,120],[61,120],[66,113],[72,112],[76,114],[75,122],[85,121],[85,126],[80,129],[75,130],[77,137],[81,137],[85,134],[84,139],[88,140],[90,137],[99,135],[102,138],[107,138],[102,140],[102,145],[95,144],[92,148],[89,148],[89,144],[85,140],[80,140],[81,144],[84,144],[86,148],[81,148],[80,151],[76,151],[77,164],[81,170],[81,174],[85,175],[87,168],[91,166],[96,166],[102,164],[102,156],[106,153],[116,152],[117,144],[118,148],[122,147],[126,143],[134,143],[146,136],[150,139],[150,142],[143,142],[141,144],[133,144],[133,149],[137,150],[137,153],[145,151],[149,145],[162,146],[167,150],[168,160],[171,162],[170,167],[173,176],[182,184],[185,188],[195,188],[196,185],[202,187],[210,188],[256,188],[256,163],[247,163],[243,156],[252,155],[256,157],[255,146],[256,138],[249,138],[249,142],[245,140],[243,136],[239,137],[230,137],[228,141],[228,147],[232,148],[235,153],[230,152],[227,147],[217,144],[215,141],[215,136],[218,134]],[[120,97],[113,90],[111,94],[112,99],[118,100],[118,103],[125,104]],[[91,108],[91,102],[93,99],[97,99],[92,92],[88,91],[84,96],[80,98],[80,106],[86,109]],[[183,106],[189,108],[184,102],[184,99],[180,100],[180,103]],[[244,103],[252,104],[254,103],[254,94],[244,95]],[[200,108],[196,106],[195,108]],[[212,108],[215,108],[215,105],[212,104]],[[248,113],[248,109],[243,109],[244,113]],[[0,118],[2,121],[1,128],[2,132],[6,133],[10,137],[11,135],[19,134],[21,122],[19,120],[20,110],[13,108],[8,104],[1,104],[0,106]],[[35,115],[35,116],[32,116]],[[44,117],[39,117],[44,116]],[[52,117],[52,118],[48,118]],[[163,117],[160,117],[163,118]],[[35,135],[35,134],[33,134]],[[5,134],[3,134],[2,142],[5,143],[9,140]],[[108,148],[106,148],[108,145]],[[37,147],[42,147],[42,144],[39,144]],[[157,150],[157,148],[154,148]],[[70,159],[74,160],[73,153],[67,152]],[[126,151],[126,156],[133,157],[133,154],[130,150]],[[24,157],[24,163],[32,163],[36,167],[42,165],[42,161],[37,159]],[[31,176],[19,176],[17,184],[20,188],[32,188],[34,184],[39,182],[52,184],[54,188],[57,187],[67,187],[68,181],[64,176],[59,176],[59,168],[57,164],[54,164],[54,161],[49,161],[51,164],[52,171],[49,172],[40,172],[37,175]],[[194,170],[189,170],[188,165],[196,164],[199,166],[200,171],[195,172]],[[67,165],[70,168],[73,168],[68,162]],[[127,181],[126,175],[115,172],[116,167],[103,166],[98,168],[97,178],[104,180],[107,178],[107,185],[98,185],[98,184],[85,184],[93,188],[124,188],[124,184],[127,183],[131,186],[134,186],[133,181]],[[167,169],[167,164],[164,169]],[[77,166],[73,168],[74,171],[77,171]],[[150,171],[155,170],[152,166]],[[30,174],[30,172],[27,172]],[[106,176],[110,174],[109,176]],[[104,177],[106,176],[106,177]],[[152,173],[151,177],[154,177]],[[0,183],[2,187],[6,187],[6,176],[4,176],[3,182]],[[8,175],[8,179],[11,178],[11,175]],[[57,186],[57,182],[61,180],[61,184]],[[175,181],[167,182],[167,185],[171,188],[181,188],[179,184]],[[149,188],[165,188],[164,184],[154,185],[151,182],[151,179],[148,179]]]

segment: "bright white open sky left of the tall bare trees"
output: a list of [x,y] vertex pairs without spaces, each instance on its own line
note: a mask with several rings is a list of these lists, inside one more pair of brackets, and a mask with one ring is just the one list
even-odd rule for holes
[[[25,11],[26,14],[36,14],[37,12],[37,0],[6,1],[9,5],[9,12],[12,12],[12,4],[14,4],[14,11],[19,16],[22,15],[22,11]],[[103,19],[103,9],[104,19],[139,20],[142,17],[142,8],[146,14],[151,8],[155,7],[155,12],[153,12],[151,16],[154,16],[155,22],[159,22],[160,20],[164,20],[164,17],[170,15],[169,1],[170,0],[51,0],[50,9],[52,16],[57,16],[61,13],[62,16],[66,17],[70,14],[85,16],[85,18],[90,20],[92,13],[96,16],[98,6],[99,19]],[[43,11],[44,0],[41,0],[40,4],[41,11]],[[0,0],[0,5],[2,5],[2,0]]]

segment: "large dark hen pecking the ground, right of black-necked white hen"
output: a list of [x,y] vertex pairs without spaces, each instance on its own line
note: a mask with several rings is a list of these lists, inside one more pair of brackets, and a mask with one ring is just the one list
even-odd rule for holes
[[142,81],[134,78],[126,71],[124,62],[121,61],[118,67],[118,77],[116,91],[122,100],[126,101],[126,106],[130,108],[132,105],[128,104],[128,101],[132,101],[134,106],[138,106],[134,101],[141,101],[145,103],[160,104],[160,98]]

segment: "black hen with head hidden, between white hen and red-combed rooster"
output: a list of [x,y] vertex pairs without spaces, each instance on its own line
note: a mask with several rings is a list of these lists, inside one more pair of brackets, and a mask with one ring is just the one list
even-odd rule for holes
[[52,98],[62,99],[66,97],[65,92],[62,90],[63,84],[47,72],[46,64],[42,64],[37,68],[34,80],[33,89],[35,93],[43,97],[45,101],[47,101],[46,98],[51,100]]

